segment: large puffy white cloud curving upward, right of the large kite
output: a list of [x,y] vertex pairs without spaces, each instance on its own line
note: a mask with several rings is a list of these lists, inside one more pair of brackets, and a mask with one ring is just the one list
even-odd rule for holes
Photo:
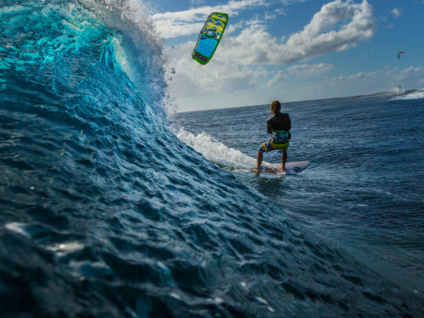
[[359,4],[336,0],[323,5],[310,23],[285,43],[271,36],[265,24],[250,21],[239,35],[227,38],[222,45],[224,54],[243,64],[291,64],[355,47],[374,36],[375,25],[367,0]]

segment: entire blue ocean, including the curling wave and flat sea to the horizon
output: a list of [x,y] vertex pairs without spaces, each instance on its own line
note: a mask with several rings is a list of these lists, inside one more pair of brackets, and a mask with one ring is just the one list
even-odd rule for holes
[[149,15],[0,0],[0,317],[424,317],[424,90],[283,103],[312,163],[252,174],[269,105],[176,112]]

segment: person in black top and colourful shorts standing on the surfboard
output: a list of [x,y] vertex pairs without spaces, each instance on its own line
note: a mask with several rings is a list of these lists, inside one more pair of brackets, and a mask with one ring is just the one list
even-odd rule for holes
[[291,120],[287,113],[280,113],[281,104],[279,101],[273,101],[271,103],[271,113],[274,116],[267,119],[267,133],[271,134],[271,139],[268,142],[264,142],[258,149],[258,159],[256,169],[263,170],[262,159],[263,153],[267,153],[272,150],[279,150],[281,155],[281,172],[284,172],[284,168],[287,161],[287,148],[289,148],[289,139],[291,138]]

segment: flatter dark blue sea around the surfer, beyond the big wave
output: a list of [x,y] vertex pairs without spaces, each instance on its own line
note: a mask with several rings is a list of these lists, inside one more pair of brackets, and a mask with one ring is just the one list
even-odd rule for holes
[[[420,297],[424,294],[421,95],[410,90],[284,103],[292,120],[288,161],[310,160],[310,168],[270,180],[238,174],[243,183],[280,204],[312,232]],[[185,130],[207,133],[230,150],[256,157],[259,144],[267,140],[260,114],[267,116],[267,107],[177,116]],[[256,140],[252,135],[258,136]],[[280,155],[269,153],[264,159],[278,163]],[[231,169],[231,164],[224,167]]]

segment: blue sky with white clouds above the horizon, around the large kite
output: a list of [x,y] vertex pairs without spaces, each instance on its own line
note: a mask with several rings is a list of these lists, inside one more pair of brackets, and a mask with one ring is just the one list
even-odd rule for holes
[[[179,111],[424,88],[424,0],[155,0],[155,12]],[[228,25],[200,65],[211,12]]]

